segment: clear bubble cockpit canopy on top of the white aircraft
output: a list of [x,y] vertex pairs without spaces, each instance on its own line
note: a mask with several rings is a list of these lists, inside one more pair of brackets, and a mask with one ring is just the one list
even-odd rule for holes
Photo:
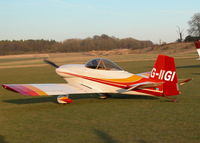
[[98,70],[123,70],[117,64],[113,63],[108,59],[97,58],[92,59],[85,64],[87,68],[98,69]]

